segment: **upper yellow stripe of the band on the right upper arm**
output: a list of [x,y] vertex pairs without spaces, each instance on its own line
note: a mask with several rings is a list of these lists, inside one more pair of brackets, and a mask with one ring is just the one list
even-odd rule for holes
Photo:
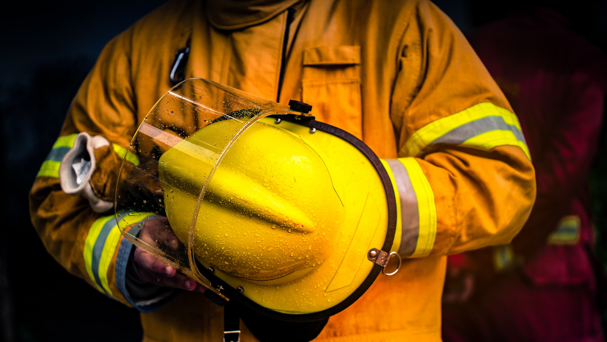
[[[521,131],[520,123],[518,122],[518,118],[514,113],[490,102],[477,103],[461,112],[439,118],[438,120],[432,121],[428,125],[420,128],[409,138],[409,140],[407,140],[401,152],[405,156],[418,156],[419,152],[421,152],[424,148],[432,145],[435,140],[438,140],[439,138],[453,131],[453,129],[488,117],[500,117],[503,119],[503,125],[509,125],[515,130]],[[482,134],[486,131],[493,130],[495,130],[495,128],[492,129],[491,127],[487,127],[485,130],[479,131],[478,133]],[[513,137],[514,139],[509,140],[505,145],[521,146],[520,143],[518,143],[520,140],[518,140],[514,135]]]

